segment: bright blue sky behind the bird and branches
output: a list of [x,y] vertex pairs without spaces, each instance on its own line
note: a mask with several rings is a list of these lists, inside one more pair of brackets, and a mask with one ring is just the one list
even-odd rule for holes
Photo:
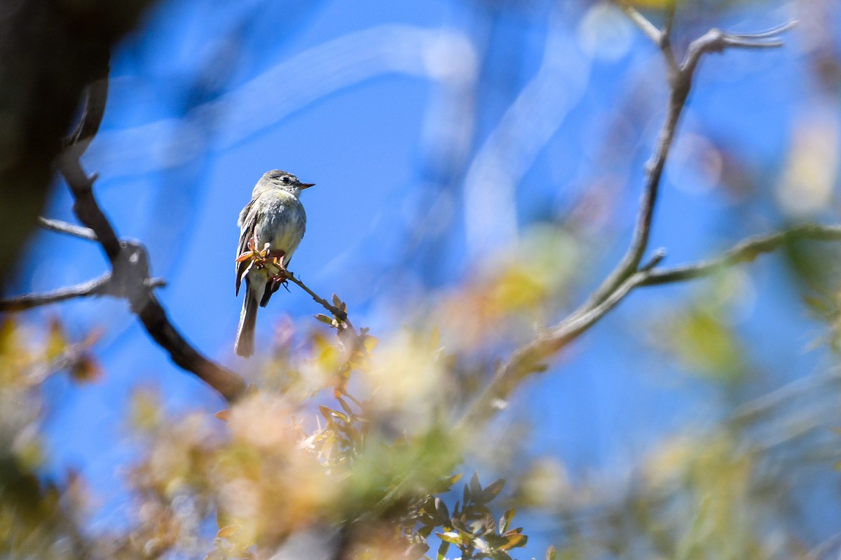
[[[596,250],[589,259],[594,275],[582,287],[593,285],[627,243],[643,163],[664,111],[664,70],[653,46],[618,13],[586,3],[563,3],[555,13],[550,3],[530,6],[489,17],[456,0],[173,0],[150,13],[114,53],[108,110],[84,163],[100,173],[98,199],[118,232],[149,249],[153,273],[168,282],[158,296],[188,339],[222,363],[247,367],[232,353],[241,306],[234,296],[235,222],[253,184],[275,168],[317,184],[303,196],[308,228],[292,270],[316,292],[339,293],[356,324],[374,334],[399,326],[395,292],[457,284],[489,251],[514,243],[530,224],[562,220],[597,180],[610,180],[606,220],[584,224],[593,228]],[[794,8],[747,4],[690,26],[680,25],[679,13],[677,29],[766,29],[797,17]],[[775,178],[785,171],[797,123],[814,118],[837,126],[839,116],[837,100],[817,93],[806,38],[795,31],[786,40],[783,50],[703,61],[653,228],[652,248],[667,247],[669,264],[701,259],[786,219],[835,216],[826,207],[787,215],[775,201]],[[477,67],[478,141],[463,155],[477,167],[463,165],[452,182],[442,181],[450,172],[442,150],[458,159],[463,142],[458,130],[451,131],[455,138],[442,133],[447,122],[465,118],[449,103]],[[534,97],[521,97],[529,87]],[[526,135],[512,125],[509,132],[520,136],[500,177],[477,155],[484,149],[494,160],[495,134],[505,146],[505,116],[519,114],[511,113],[518,98],[535,120],[526,123]],[[454,120],[440,118],[447,109]],[[613,144],[611,134],[621,142]],[[623,151],[611,153],[614,145]],[[710,171],[720,160],[706,167],[694,160],[722,153],[769,179],[750,193],[753,203],[722,188],[722,175]],[[497,180],[512,181],[510,198],[485,190]],[[465,210],[465,203],[473,207]],[[47,213],[71,219],[70,207],[59,186]],[[422,218],[425,212],[431,216]],[[34,243],[50,243],[61,267],[30,269],[20,290],[70,285],[105,269],[91,244],[54,233]],[[755,348],[751,359],[768,374],[762,385],[825,367],[826,353],[804,350],[818,327],[780,262],[761,259],[745,278],[749,296],[734,321]],[[648,322],[699,293],[698,285],[641,290],[527,385],[511,417],[547,421],[529,453],[561,458],[574,475],[622,471],[629,457],[670,432],[716,418],[721,389],[641,343]],[[317,312],[293,287],[275,296],[259,322],[267,331],[285,313],[307,322]],[[214,410],[221,402],[167,361],[124,302],[73,301],[29,317],[52,314],[78,333],[103,327],[97,354],[107,374],[80,388],[52,380],[56,408],[48,427],[55,472],[72,466],[97,480],[105,508],[114,508],[103,511],[108,516],[124,507],[119,468],[135,453],[124,441],[131,391],[160,386],[173,410]],[[537,547],[529,552],[540,554]]]

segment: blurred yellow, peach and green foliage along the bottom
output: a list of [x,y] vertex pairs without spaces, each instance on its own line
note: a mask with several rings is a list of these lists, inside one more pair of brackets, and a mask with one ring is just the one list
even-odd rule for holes
[[[723,318],[726,295],[738,293],[733,285],[725,274],[664,319],[662,333],[671,333],[691,367],[715,374],[738,361]],[[471,284],[465,296],[483,291]],[[533,297],[539,306],[556,296],[547,289]],[[451,307],[444,299],[428,317]],[[495,311],[496,328],[507,332],[498,336],[512,336],[520,328],[516,317],[529,309]],[[513,484],[483,484],[483,474],[463,475],[465,464],[488,453],[504,457],[518,442],[509,432],[466,432],[458,423],[481,386],[470,389],[459,379],[458,356],[471,353],[475,338],[454,337],[445,346],[436,328],[378,340],[336,317],[317,317],[314,325],[320,327],[309,332],[291,324],[279,329],[278,348],[267,349],[271,359],[255,387],[216,415],[173,413],[156,390],[137,390],[127,422],[144,451],[126,473],[130,519],[122,529],[93,533],[85,525],[85,481],[77,474],[45,481],[38,473],[43,383],[58,370],[74,371],[95,338],[73,343],[51,322],[45,340],[33,345],[21,327],[5,322],[0,550],[56,558],[506,560],[524,557],[518,552],[532,531],[515,520],[526,510],[532,523],[535,514],[542,519],[542,538],[555,542],[546,557],[556,560],[809,557],[798,530],[796,472],[809,453],[841,442],[833,434],[827,447],[812,419],[794,429],[801,407],[785,406],[805,398],[834,402],[838,376],[779,400],[760,397],[707,430],[677,433],[624,480],[573,479],[563,463],[536,458],[494,468]],[[831,472],[832,461],[821,464]]]

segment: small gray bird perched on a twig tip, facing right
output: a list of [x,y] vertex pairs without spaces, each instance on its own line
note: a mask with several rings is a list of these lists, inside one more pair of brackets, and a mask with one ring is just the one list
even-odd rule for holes
[[[249,250],[248,242],[255,239],[253,249],[262,250],[269,243],[269,256],[277,257],[285,268],[292,259],[298,243],[304,238],[307,215],[299,196],[315,183],[302,183],[298,177],[281,170],[263,175],[254,191],[251,202],[240,212],[236,224],[240,227],[240,246],[237,257]],[[246,272],[247,271],[247,272]],[[245,276],[246,299],[242,302],[240,327],[236,332],[234,350],[244,358],[254,353],[254,329],[257,325],[257,306],[265,307],[280,284],[272,281],[265,268],[251,266],[249,262],[236,263],[236,294]]]

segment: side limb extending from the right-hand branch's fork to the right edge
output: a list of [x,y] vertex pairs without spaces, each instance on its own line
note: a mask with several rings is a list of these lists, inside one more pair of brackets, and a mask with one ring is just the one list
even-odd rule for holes
[[683,264],[668,269],[654,270],[641,285],[661,285],[673,282],[694,280],[709,276],[733,264],[748,263],[756,259],[759,254],[770,253],[785,243],[798,239],[813,241],[841,240],[841,226],[821,226],[806,223],[784,232],[769,235],[754,235],[736,244],[725,254],[715,259],[703,260],[699,263]]

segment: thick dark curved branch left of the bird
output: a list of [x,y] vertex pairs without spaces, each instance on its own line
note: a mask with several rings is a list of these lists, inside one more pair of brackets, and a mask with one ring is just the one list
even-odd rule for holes
[[149,332],[161,348],[167,350],[175,364],[195,374],[217,390],[225,400],[231,402],[245,390],[245,381],[230,369],[225,369],[198,353],[172,325],[167,311],[152,293],[145,248],[140,243],[121,241],[117,237],[93,196],[93,181],[96,180],[96,176],[87,176],[82,169],[79,158],[87,144],[84,134],[98,130],[98,121],[102,119],[107,97],[107,80],[91,84],[87,93],[88,107],[82,115],[82,123],[77,127],[77,134],[68,140],[60,159],[61,175],[75,198],[73,212],[80,222],[93,231],[111,263],[113,278],[109,283],[117,293],[130,301],[131,311],[140,318],[146,332]]

